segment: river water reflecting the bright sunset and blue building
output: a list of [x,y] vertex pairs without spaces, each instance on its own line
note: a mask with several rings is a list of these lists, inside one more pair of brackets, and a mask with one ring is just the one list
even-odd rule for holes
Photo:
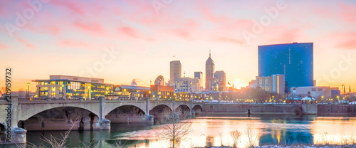
[[[284,117],[283,115],[260,115],[254,117],[196,117],[192,120],[192,131],[187,137],[177,142],[181,147],[206,147],[206,145],[232,146],[229,132],[239,130],[242,136],[239,147],[246,147],[247,129],[256,136],[256,145],[265,144],[323,144],[325,139],[342,143],[342,137],[355,134],[355,117]],[[111,131],[85,131],[70,133],[70,147],[78,147],[90,142],[95,147],[117,147],[121,142],[125,147],[169,147],[169,140],[158,140],[159,125],[147,124],[112,124]],[[325,134],[325,133],[328,134]],[[60,136],[63,132],[45,132]],[[28,132],[28,142],[39,145],[43,132]],[[327,138],[325,138],[327,137]]]

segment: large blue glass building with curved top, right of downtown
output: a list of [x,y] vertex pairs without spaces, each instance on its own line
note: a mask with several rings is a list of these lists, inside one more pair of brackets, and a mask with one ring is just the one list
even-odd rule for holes
[[313,86],[313,43],[258,46],[258,76],[276,74],[285,75],[286,91],[290,87]]

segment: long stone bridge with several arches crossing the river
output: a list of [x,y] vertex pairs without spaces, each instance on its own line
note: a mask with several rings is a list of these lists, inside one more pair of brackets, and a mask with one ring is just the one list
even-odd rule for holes
[[[61,116],[63,118],[64,116],[64,118],[66,118],[66,116],[70,116],[67,114],[68,111],[65,110],[65,113],[59,113],[61,112],[61,110],[66,108],[70,108],[73,110],[77,109],[76,111],[73,111],[77,112],[77,115],[82,114],[90,117],[90,119],[88,119],[88,122],[83,122],[83,125],[88,125],[85,126],[87,127],[87,129],[110,129],[110,120],[105,119],[105,116],[107,116],[108,114],[110,114],[110,112],[119,107],[137,107],[140,109],[140,112],[144,112],[146,117],[152,118],[152,115],[150,115],[151,110],[162,110],[162,108],[169,108],[169,110],[173,111],[177,110],[177,108],[179,107],[183,107],[186,110],[189,109],[189,112],[192,112],[194,108],[199,108],[201,111],[203,111],[204,103],[157,100],[54,100],[51,98],[46,100],[19,100],[17,97],[12,97],[11,112],[6,110],[7,108],[9,108],[9,106],[9,103],[5,100],[0,101],[1,128],[5,130],[5,133],[6,129],[11,129],[11,143],[23,143],[26,142],[26,130],[20,128],[21,122],[32,119],[34,116],[41,114],[41,112],[43,114],[43,112],[47,110],[58,109],[47,113],[49,114],[48,117],[56,118],[56,116]],[[11,123],[8,122],[9,116],[11,116]],[[63,120],[66,122],[67,119],[62,118],[56,120]],[[69,120],[68,123],[70,123]],[[22,124],[24,125],[24,123]],[[43,120],[42,125],[39,124],[38,126],[45,127]]]

